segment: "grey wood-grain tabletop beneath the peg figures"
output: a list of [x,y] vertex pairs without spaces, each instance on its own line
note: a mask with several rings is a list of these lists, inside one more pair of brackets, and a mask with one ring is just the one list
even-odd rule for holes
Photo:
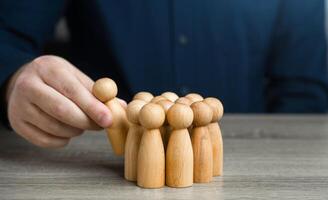
[[0,129],[0,199],[328,199],[328,117],[226,115],[224,175],[141,189],[123,178],[105,132],[45,150]]

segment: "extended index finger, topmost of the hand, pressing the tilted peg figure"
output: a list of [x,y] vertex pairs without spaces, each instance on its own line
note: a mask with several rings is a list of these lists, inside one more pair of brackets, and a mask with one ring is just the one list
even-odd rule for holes
[[[109,127],[112,123],[110,110],[81,84],[73,75],[67,76],[69,71],[65,68],[40,69],[42,80],[63,96],[73,101],[93,121],[101,127]],[[61,81],[57,81],[61,80]]]

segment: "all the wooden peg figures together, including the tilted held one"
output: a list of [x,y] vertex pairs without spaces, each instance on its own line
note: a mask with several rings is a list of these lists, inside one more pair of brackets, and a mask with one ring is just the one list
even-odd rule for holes
[[222,175],[218,122],[223,106],[218,99],[139,92],[124,108],[109,78],[97,80],[93,94],[112,112],[107,134],[114,153],[124,155],[127,180],[143,188],[189,187]]

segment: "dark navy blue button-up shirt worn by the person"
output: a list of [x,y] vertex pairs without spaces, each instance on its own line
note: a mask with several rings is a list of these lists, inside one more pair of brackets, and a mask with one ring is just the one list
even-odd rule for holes
[[[325,112],[324,0],[1,0],[0,84],[66,17],[69,60],[120,94],[220,98],[227,112]],[[127,99],[128,100],[128,99]]]

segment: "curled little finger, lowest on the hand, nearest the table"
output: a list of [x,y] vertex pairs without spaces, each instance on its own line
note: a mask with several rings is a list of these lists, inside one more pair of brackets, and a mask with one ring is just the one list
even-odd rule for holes
[[52,136],[28,122],[20,123],[16,129],[17,133],[27,141],[43,148],[59,148],[66,146],[69,142],[68,138]]

